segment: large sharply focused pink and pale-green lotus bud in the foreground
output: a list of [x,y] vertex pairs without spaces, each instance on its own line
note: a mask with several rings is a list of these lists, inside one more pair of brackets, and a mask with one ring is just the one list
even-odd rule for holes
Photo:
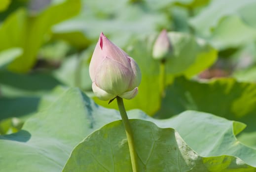
[[131,99],[138,93],[141,71],[132,57],[101,33],[89,66],[92,90],[101,100]]

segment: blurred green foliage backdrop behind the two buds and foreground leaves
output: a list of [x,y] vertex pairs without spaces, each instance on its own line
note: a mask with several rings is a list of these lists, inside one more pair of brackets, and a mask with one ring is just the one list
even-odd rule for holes
[[[242,121],[241,140],[255,146],[255,9],[256,0],[0,0],[0,134],[18,131],[67,87],[93,97],[88,66],[103,31],[142,70],[128,110],[167,118],[191,109]],[[163,99],[151,57],[162,29],[175,48]]]

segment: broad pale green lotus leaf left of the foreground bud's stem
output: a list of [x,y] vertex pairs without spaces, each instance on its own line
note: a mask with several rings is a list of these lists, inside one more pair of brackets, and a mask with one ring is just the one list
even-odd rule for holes
[[77,143],[116,119],[117,111],[103,109],[78,89],[69,89],[27,120],[21,131],[0,136],[1,171],[60,172]]

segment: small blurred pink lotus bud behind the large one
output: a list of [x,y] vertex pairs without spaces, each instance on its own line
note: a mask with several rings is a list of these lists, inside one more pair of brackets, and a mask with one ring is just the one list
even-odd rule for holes
[[152,56],[155,59],[164,60],[171,55],[172,45],[167,31],[163,29],[154,43]]

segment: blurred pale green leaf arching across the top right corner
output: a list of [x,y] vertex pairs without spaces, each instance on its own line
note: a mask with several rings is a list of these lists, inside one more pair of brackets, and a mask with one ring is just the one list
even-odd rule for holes
[[[229,4],[228,8],[227,4]],[[219,20],[225,16],[240,16],[244,21],[253,21],[255,24],[255,20],[251,17],[255,16],[255,8],[250,8],[255,5],[256,0],[212,0],[207,7],[190,20],[190,23],[199,34],[205,36],[209,36],[210,31],[216,28]],[[232,30],[230,28],[234,29],[232,26],[229,27],[229,30]]]

